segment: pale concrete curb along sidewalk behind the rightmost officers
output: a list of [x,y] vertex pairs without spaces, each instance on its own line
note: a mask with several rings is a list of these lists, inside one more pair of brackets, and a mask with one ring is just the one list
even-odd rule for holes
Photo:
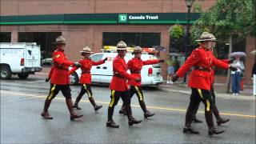
[[[164,88],[164,87],[159,87],[161,90],[166,90],[169,92],[175,92],[175,93],[181,93],[181,94],[191,94],[191,91],[189,90],[170,90],[168,88]],[[237,100],[248,100],[248,101],[255,101],[256,100],[256,96],[234,96],[232,94],[222,94],[222,93],[215,93],[217,98],[223,98],[223,99],[237,99]]]

